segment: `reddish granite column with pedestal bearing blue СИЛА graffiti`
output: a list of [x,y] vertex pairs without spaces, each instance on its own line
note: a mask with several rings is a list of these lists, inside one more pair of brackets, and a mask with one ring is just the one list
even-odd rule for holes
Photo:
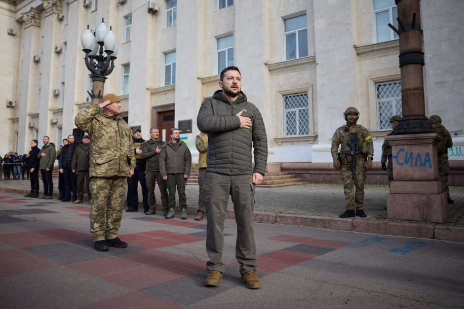
[[395,0],[398,6],[399,66],[403,118],[393,135],[393,181],[387,195],[389,219],[443,223],[448,218],[447,196],[438,173],[440,141],[425,117],[424,53],[419,0]]

